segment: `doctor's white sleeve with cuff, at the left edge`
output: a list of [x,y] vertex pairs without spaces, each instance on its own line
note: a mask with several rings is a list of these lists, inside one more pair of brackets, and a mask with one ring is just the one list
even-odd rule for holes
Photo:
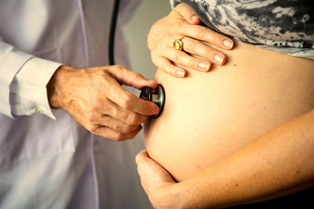
[[11,118],[39,112],[56,119],[46,86],[61,65],[19,51],[0,37],[0,112]]

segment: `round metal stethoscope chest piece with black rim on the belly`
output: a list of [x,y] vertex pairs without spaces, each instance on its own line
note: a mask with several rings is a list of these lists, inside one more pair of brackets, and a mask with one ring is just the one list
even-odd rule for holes
[[161,115],[165,106],[165,89],[163,86],[158,84],[157,88],[153,90],[146,86],[142,89],[139,98],[149,102],[154,102],[159,107],[159,112],[156,115],[151,115],[152,118],[158,118]]

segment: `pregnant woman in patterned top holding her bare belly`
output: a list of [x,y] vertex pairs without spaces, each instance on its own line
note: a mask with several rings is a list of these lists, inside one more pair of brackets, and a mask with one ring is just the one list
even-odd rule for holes
[[[183,50],[213,65],[208,73],[194,71],[193,58],[173,48],[169,48],[173,58],[166,58],[176,66],[170,62],[159,66],[153,60],[173,75],[180,69],[186,72],[184,79],[161,69],[155,74],[155,80],[165,87],[165,107],[158,119],[145,124],[147,151],[136,159],[153,206],[228,207],[312,187],[312,7],[301,0],[183,2],[209,28],[236,41],[232,51],[219,49],[228,59],[225,65],[216,65],[224,63],[225,57],[204,54],[205,45],[193,40],[179,21],[176,27],[172,25],[173,34],[159,33],[167,47],[187,36],[182,39]],[[152,27],[149,43],[150,38],[157,40],[153,34],[158,27],[171,27],[177,10]],[[204,28],[199,34],[206,37],[209,30]]]

